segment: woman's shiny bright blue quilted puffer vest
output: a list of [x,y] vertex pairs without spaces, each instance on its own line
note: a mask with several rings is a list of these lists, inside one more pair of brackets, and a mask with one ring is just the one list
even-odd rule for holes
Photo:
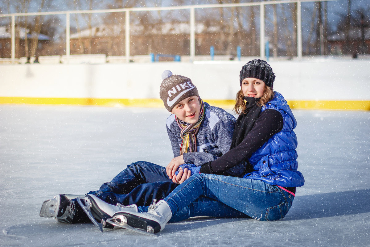
[[278,92],[274,92],[274,98],[262,107],[261,112],[266,109],[275,109],[282,114],[283,129],[252,154],[249,161],[255,171],[245,174],[244,178],[282,187],[303,186],[305,179],[297,171],[297,136],[293,131],[297,121],[292,110]]

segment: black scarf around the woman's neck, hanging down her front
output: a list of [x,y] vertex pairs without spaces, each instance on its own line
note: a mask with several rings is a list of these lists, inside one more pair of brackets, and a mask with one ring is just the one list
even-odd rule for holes
[[245,103],[246,113],[240,114],[236,120],[230,149],[238,146],[244,140],[261,113],[262,106],[256,104],[260,98],[244,97],[244,99],[247,101]]

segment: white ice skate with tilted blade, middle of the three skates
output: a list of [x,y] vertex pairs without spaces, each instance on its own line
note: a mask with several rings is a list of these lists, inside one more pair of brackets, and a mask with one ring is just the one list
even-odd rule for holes
[[109,204],[94,195],[87,195],[85,198],[77,198],[78,204],[90,218],[92,223],[103,232],[103,228],[113,228],[115,224],[110,224],[107,219],[112,218],[117,212],[132,212],[136,213],[138,208],[136,205],[117,206]]

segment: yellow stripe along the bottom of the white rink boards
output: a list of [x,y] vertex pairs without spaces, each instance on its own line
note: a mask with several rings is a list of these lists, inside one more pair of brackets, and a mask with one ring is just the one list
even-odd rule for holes
[[[235,100],[205,100],[212,106],[233,109]],[[164,107],[160,99],[88,99],[0,97],[0,104],[46,104],[77,106]],[[365,110],[370,111],[370,100],[288,100],[292,109],[307,110]]]

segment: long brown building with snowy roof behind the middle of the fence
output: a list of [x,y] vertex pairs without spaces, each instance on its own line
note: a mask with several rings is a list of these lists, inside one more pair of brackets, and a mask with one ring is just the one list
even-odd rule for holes
[[[189,55],[190,47],[189,23],[159,23],[150,26],[130,26],[130,53],[133,56],[155,54]],[[247,36],[246,32],[236,30],[228,35]],[[209,55],[213,46],[216,54],[225,54],[228,46],[243,46],[239,39],[226,42],[222,37],[225,32],[221,26],[215,24],[195,24],[195,54]],[[71,39],[71,54],[106,54],[107,56],[121,56],[125,53],[125,27],[120,25],[100,25],[73,33]],[[258,47],[259,44],[256,44]],[[249,49],[248,49],[249,50]],[[258,56],[256,52],[246,56]],[[169,52],[170,51],[170,52]],[[246,50],[245,50],[246,51]]]

